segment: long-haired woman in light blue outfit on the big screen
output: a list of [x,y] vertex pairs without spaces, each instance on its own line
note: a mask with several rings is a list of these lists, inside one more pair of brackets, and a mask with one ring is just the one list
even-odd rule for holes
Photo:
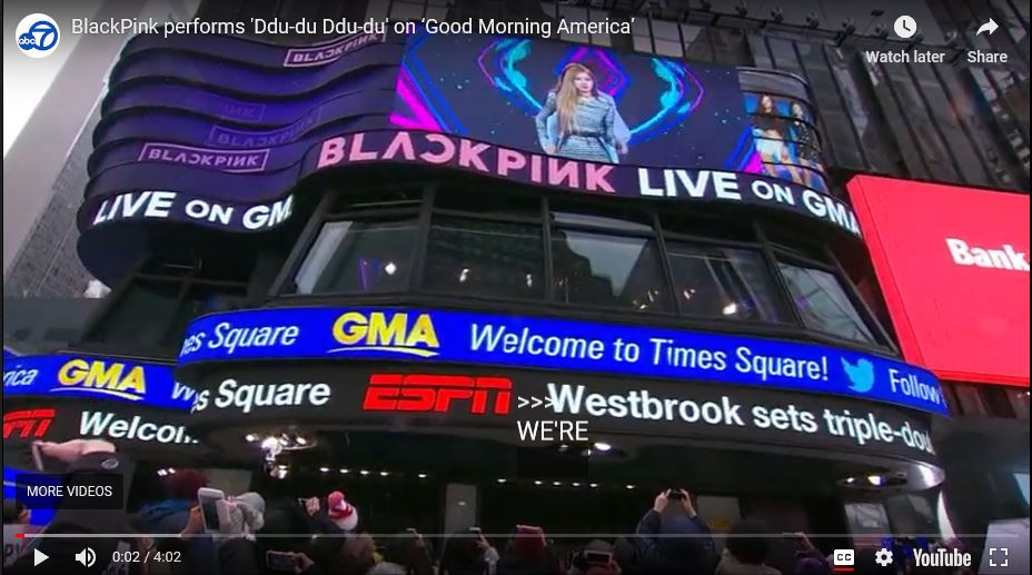
[[535,123],[549,156],[618,163],[617,153],[627,153],[631,131],[616,101],[598,91],[595,75],[582,63],[563,68]]

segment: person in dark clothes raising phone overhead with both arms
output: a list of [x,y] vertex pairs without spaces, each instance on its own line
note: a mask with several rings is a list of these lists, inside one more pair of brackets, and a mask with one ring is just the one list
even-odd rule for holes
[[710,527],[685,489],[656,495],[637,526],[645,573],[712,573],[716,564]]

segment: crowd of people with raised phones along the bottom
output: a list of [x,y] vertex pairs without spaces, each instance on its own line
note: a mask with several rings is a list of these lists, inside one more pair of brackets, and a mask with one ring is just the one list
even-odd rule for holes
[[[102,440],[76,439],[41,444],[46,456],[68,465],[68,473],[128,473],[125,456]],[[185,469],[170,475],[167,498],[129,514],[126,509],[79,510],[59,508],[44,533],[76,534],[76,538],[38,538],[4,573],[43,573],[33,566],[32,548],[49,556],[71,557],[83,545],[96,552],[93,573],[129,574],[340,574],[340,575],[778,575],[767,564],[771,533],[762,522],[745,519],[726,534],[723,549],[695,512],[687,492],[659,493],[654,505],[628,536],[591,541],[573,552],[560,552],[545,531],[516,525],[504,538],[488,537],[470,527],[445,537],[435,548],[434,537],[414,528],[371,536],[361,531],[359,510],[343,492],[326,497],[266,500],[258,493],[226,496],[218,525],[212,526],[199,503],[207,486],[201,472]],[[7,509],[8,506],[4,506]],[[17,508],[28,521],[28,512]],[[95,534],[139,534],[123,539],[91,538]],[[492,541],[492,539],[495,541]],[[830,575],[828,557],[802,533],[794,534],[797,548],[791,573]],[[500,539],[500,541],[499,541]],[[117,553],[121,551],[121,553]],[[111,563],[138,552],[137,561]],[[116,554],[116,555],[112,555]],[[139,557],[150,558],[147,562]],[[867,561],[870,559],[870,561]],[[116,562],[118,563],[118,562]],[[861,552],[855,573],[937,573],[879,571]],[[959,572],[944,572],[959,573]]]

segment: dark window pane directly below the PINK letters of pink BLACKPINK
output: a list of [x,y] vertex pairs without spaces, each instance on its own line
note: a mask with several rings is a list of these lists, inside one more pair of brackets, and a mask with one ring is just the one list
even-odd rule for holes
[[506,299],[543,299],[542,227],[435,217],[423,285],[435,291]]

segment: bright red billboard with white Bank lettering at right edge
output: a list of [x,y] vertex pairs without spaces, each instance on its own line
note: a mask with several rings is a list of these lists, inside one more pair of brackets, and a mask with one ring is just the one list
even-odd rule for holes
[[857,176],[849,186],[907,361],[1029,386],[1029,196]]

